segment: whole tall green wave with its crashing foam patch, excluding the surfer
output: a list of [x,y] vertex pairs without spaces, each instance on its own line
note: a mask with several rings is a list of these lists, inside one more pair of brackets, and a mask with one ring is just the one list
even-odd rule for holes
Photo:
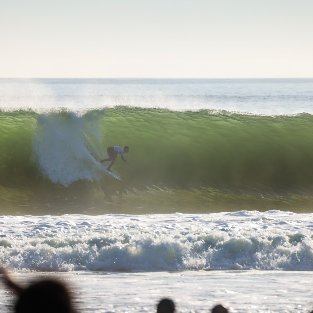
[[[8,210],[41,210],[38,214],[83,208],[88,214],[311,212],[312,122],[309,114],[127,107],[75,114],[2,112],[2,203]],[[124,155],[130,165],[118,156],[112,167],[123,182],[90,155],[105,158],[112,145],[130,147]]]

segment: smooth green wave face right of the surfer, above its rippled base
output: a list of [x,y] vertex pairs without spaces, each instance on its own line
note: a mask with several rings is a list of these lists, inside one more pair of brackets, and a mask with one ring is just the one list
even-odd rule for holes
[[312,183],[311,115],[108,110],[104,125],[109,144],[131,146],[134,166],[124,174],[130,184],[276,189]]

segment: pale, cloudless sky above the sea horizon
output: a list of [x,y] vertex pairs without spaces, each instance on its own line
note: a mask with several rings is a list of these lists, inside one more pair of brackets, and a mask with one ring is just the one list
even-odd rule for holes
[[0,77],[313,77],[313,1],[2,0]]

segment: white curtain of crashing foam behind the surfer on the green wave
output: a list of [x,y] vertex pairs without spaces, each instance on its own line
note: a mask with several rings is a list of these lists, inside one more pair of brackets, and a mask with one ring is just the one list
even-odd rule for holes
[[100,132],[103,114],[105,110],[84,116],[74,112],[38,115],[33,131],[33,162],[38,163],[45,177],[65,187],[78,180],[100,179],[105,170],[90,154],[84,135],[88,132],[92,136],[93,149],[104,156]]

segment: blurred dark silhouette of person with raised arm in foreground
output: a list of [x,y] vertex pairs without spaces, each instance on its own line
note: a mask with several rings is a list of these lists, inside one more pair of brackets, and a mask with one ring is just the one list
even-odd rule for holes
[[65,285],[57,280],[41,280],[22,288],[14,283],[5,269],[0,268],[5,284],[18,294],[14,306],[15,312],[23,313],[71,313],[72,307],[69,292]]

